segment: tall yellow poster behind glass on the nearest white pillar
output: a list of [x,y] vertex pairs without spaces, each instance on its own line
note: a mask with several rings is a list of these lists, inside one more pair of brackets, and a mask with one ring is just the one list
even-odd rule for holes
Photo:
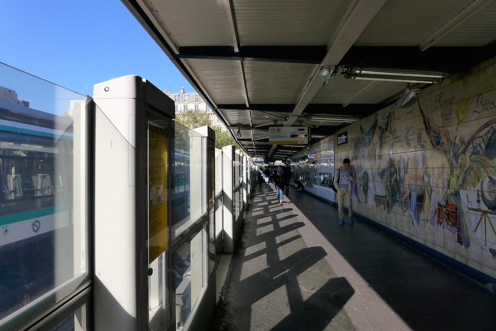
[[167,250],[167,136],[148,126],[148,255],[154,261]]

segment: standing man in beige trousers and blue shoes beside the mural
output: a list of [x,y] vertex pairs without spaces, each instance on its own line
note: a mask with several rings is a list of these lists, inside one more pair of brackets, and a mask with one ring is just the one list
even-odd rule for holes
[[348,218],[350,224],[353,224],[353,201],[351,199],[353,182],[355,182],[353,167],[350,165],[350,159],[345,158],[343,165],[334,172],[334,186],[338,189],[336,199],[338,200],[339,224],[344,224],[343,204],[345,199],[348,203]]

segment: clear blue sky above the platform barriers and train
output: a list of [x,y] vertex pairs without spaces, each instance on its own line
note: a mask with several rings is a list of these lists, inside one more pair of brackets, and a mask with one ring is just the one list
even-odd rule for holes
[[120,0],[0,0],[0,8],[6,65],[91,96],[94,84],[129,74],[194,91]]

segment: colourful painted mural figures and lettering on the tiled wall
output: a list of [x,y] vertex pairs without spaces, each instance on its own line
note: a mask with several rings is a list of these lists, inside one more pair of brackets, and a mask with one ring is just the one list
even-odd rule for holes
[[465,249],[475,242],[496,259],[495,92],[464,99],[446,91],[357,124],[347,153],[358,195],[411,227],[447,230]]

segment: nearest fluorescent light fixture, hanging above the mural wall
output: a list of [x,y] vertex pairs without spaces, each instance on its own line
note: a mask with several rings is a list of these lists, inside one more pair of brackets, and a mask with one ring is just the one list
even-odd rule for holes
[[350,68],[345,72],[345,78],[434,84],[440,83],[446,74],[439,71]]

